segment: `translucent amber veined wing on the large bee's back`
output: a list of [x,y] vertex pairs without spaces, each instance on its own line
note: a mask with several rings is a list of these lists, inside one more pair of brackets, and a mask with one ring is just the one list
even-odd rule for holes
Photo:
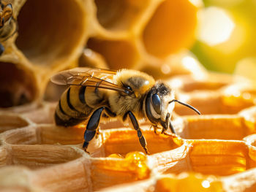
[[122,93],[129,93],[129,89],[120,87],[113,82],[108,81],[108,79],[113,78],[114,74],[116,74],[116,71],[108,69],[78,67],[59,72],[51,77],[50,80],[57,85],[84,85],[87,87],[105,88]]

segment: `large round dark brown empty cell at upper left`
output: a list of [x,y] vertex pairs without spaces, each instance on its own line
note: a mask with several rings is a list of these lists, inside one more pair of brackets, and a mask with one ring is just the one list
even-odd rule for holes
[[80,1],[28,0],[18,15],[16,45],[34,64],[72,61],[86,38],[85,14]]

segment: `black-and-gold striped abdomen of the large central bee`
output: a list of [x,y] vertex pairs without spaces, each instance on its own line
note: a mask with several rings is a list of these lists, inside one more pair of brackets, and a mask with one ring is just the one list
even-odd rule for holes
[[96,93],[95,88],[86,88],[86,86],[80,85],[70,86],[62,94],[56,107],[56,124],[75,126],[87,120],[97,101],[102,101],[102,98]]

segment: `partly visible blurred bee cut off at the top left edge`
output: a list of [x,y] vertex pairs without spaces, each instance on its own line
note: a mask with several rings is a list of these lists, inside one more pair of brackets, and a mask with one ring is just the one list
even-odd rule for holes
[[0,1],[0,55],[4,53],[1,43],[12,37],[17,30],[17,22],[12,18],[12,4]]

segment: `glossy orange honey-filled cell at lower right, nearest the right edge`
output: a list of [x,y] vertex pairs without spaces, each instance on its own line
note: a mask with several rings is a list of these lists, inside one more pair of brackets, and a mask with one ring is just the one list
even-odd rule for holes
[[189,155],[193,172],[227,176],[255,167],[244,142],[227,140],[195,140]]

